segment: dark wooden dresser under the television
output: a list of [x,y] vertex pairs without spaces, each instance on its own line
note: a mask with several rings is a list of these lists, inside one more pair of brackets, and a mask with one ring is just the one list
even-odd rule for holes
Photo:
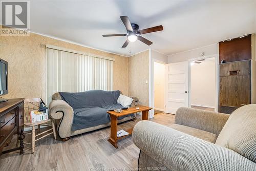
[[[9,99],[8,101],[0,103],[0,155],[16,150],[20,150],[19,154],[23,154],[23,140],[25,138],[23,133],[23,100],[22,98]],[[10,144],[15,134],[18,136],[19,147],[3,151],[3,148]]]

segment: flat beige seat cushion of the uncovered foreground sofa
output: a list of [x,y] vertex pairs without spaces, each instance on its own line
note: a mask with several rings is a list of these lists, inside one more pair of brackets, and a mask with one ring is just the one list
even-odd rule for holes
[[183,132],[185,134],[200,138],[202,140],[205,140],[211,143],[215,143],[217,138],[216,134],[198,130],[198,129],[195,129],[194,127],[184,126],[180,124],[172,124],[170,127],[172,127],[172,129],[175,129],[177,131]]

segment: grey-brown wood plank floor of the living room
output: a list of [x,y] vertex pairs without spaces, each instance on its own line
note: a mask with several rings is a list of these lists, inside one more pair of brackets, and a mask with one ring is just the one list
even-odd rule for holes
[[[174,123],[175,115],[158,114],[153,122],[166,126]],[[129,129],[141,120],[137,115],[134,121],[118,124],[118,130]],[[30,137],[26,135],[25,141]],[[25,145],[25,154],[19,152],[4,154],[0,157],[0,170],[102,170],[102,168],[136,168],[139,156],[137,148],[129,136],[118,142],[116,149],[107,139],[110,127],[85,133],[66,142],[53,136],[42,138],[36,143],[35,153]],[[15,137],[10,146],[15,146]]]

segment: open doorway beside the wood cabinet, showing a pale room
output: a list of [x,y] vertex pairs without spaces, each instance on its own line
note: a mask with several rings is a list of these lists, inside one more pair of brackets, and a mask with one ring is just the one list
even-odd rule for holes
[[217,111],[216,57],[190,61],[191,108]]

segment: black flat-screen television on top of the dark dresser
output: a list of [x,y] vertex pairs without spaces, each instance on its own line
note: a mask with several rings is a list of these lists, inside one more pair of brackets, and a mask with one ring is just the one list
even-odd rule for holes
[[[0,95],[8,93],[8,62],[0,59]],[[0,98],[0,102],[7,99]]]

